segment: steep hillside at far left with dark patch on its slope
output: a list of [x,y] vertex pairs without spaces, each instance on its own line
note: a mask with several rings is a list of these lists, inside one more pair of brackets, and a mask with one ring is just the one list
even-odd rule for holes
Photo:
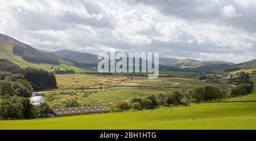
[[10,36],[0,34],[0,59],[6,59],[14,62],[16,65],[24,67],[34,67],[38,69],[50,69],[53,67],[60,67],[60,69],[70,69],[74,71],[81,71],[73,62],[57,57],[53,53],[44,52],[30,45],[24,44]]

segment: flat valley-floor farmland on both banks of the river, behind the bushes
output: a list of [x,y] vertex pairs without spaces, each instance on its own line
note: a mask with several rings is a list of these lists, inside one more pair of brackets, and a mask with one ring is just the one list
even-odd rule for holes
[[[211,85],[222,89],[232,86],[221,83],[201,82],[196,78],[147,79],[144,76],[116,76],[89,74],[56,75],[58,90],[45,93],[46,102],[52,107],[63,107],[65,101],[75,99],[80,105],[111,106],[119,100],[144,98],[158,93],[180,91],[181,89]],[[70,91],[72,89],[130,87],[125,89],[106,89],[100,91]],[[65,90],[65,91],[62,91]]]

